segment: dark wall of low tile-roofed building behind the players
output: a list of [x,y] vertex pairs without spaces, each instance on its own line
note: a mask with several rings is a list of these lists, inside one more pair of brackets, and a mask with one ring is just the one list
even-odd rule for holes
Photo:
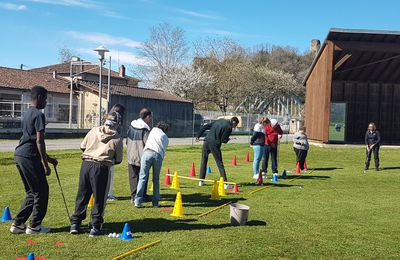
[[111,106],[117,103],[122,104],[126,108],[123,129],[124,136],[126,136],[129,124],[132,120],[139,117],[139,111],[143,107],[147,107],[153,112],[153,126],[158,121],[165,121],[170,125],[167,133],[168,137],[192,136],[192,103],[112,95]]

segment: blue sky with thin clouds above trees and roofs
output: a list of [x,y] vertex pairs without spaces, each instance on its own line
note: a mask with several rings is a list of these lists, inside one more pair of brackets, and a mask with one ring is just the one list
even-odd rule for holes
[[329,28],[400,30],[399,10],[394,0],[0,0],[0,66],[55,64],[62,46],[95,61],[100,44],[114,64],[141,64],[137,47],[162,22],[183,28],[189,43],[230,37],[303,52]]

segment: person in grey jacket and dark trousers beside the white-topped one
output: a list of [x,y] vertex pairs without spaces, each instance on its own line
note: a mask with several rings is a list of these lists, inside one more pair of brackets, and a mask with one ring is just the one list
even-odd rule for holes
[[[147,108],[142,108],[139,112],[139,118],[133,120],[128,128],[126,138],[126,151],[128,157],[129,171],[129,186],[131,188],[131,202],[135,202],[137,192],[140,160],[142,159],[143,149],[146,145],[147,138],[150,133],[150,124],[152,120],[151,111]],[[150,196],[147,195],[147,179],[143,190],[144,201],[149,201]]]

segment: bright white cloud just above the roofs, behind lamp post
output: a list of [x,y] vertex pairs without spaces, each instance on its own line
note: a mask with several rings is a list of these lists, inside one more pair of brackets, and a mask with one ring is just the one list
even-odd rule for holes
[[[92,57],[97,57],[97,53],[91,49],[78,49],[77,51],[83,54],[88,54]],[[111,56],[112,59],[111,62],[113,64],[116,64],[118,62],[120,64],[122,63],[122,64],[134,64],[134,65],[144,65],[144,66],[151,65],[148,60],[138,57],[134,53],[127,51],[111,50],[110,52],[106,53],[106,60],[108,60],[109,56]]]

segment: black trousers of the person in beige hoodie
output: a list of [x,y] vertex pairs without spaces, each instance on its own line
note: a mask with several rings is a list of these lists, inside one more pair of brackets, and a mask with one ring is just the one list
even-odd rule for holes
[[92,226],[101,229],[104,222],[103,214],[107,200],[107,182],[109,167],[98,162],[83,161],[79,175],[78,194],[75,202],[75,213],[71,224],[80,225],[86,218],[86,210],[93,194]]

